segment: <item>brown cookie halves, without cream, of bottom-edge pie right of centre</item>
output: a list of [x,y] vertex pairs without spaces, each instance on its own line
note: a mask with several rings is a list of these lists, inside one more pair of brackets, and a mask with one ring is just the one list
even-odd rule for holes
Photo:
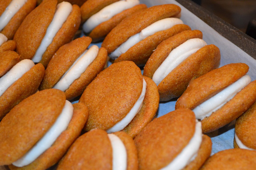
[[[166,167],[190,142],[195,127],[195,115],[189,109],[178,109],[155,118],[134,139],[139,169],[156,170]],[[200,167],[210,156],[210,150],[210,138],[205,136],[196,158],[187,168]]]

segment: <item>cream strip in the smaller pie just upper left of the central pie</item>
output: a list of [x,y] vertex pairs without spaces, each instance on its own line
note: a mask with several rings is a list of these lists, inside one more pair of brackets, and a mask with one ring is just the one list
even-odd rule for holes
[[57,88],[61,91],[65,91],[69,86],[81,76],[86,68],[97,57],[99,47],[93,45],[89,50],[85,50],[71,65],[68,71],[61,77],[61,79],[55,84],[53,88]]

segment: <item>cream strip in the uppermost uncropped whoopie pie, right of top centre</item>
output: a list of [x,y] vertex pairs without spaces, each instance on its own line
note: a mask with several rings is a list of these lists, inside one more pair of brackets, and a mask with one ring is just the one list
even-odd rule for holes
[[158,31],[167,30],[177,24],[183,24],[182,20],[180,20],[179,18],[165,18],[156,21],[141,30],[141,32],[128,38],[126,42],[122,43],[117,49],[115,49],[115,51],[109,54],[109,57],[112,59],[116,59],[121,54],[125,53],[129,48],[142,41],[143,39],[155,34]]

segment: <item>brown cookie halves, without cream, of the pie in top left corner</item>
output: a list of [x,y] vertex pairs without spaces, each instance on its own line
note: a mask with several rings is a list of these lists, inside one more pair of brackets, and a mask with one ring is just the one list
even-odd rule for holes
[[[11,0],[0,0],[0,16],[3,14],[6,7]],[[0,33],[4,34],[9,40],[11,40],[21,25],[25,17],[35,8],[36,0],[27,0],[27,2],[18,10],[18,12],[11,18],[9,23],[0,30]]]

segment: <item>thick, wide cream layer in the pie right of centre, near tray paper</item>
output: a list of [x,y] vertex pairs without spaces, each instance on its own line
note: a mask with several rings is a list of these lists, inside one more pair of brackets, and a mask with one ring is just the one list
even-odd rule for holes
[[195,53],[198,49],[207,45],[200,38],[192,38],[174,48],[163,63],[156,69],[152,80],[158,86],[160,82],[182,61]]

